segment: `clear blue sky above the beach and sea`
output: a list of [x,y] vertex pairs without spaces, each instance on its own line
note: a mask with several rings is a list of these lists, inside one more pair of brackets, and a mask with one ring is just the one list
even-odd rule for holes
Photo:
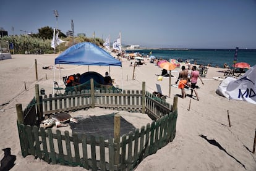
[[9,35],[58,28],[98,38],[121,32],[125,44],[149,48],[256,49],[255,0],[1,0],[0,27]]

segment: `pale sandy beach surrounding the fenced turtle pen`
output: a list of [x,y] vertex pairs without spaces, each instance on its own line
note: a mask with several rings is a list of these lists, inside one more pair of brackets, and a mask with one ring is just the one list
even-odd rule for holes
[[[17,131],[17,114],[15,104],[27,107],[35,96],[35,84],[45,89],[46,94],[53,93],[53,80],[64,87],[62,77],[88,70],[101,73],[109,72],[109,67],[61,65],[64,69],[46,70],[43,67],[53,66],[54,57],[58,54],[44,55],[12,55],[12,59],[0,60],[0,148],[11,148],[17,157],[11,170],[85,170],[82,167],[52,165],[34,156],[22,157],[19,134]],[[35,77],[35,59],[38,69],[38,81]],[[150,64],[135,68],[135,80],[132,80],[133,67],[127,59],[122,60],[121,67],[110,67],[110,75],[114,78],[114,86],[124,90],[141,90],[142,82],[146,90],[153,93],[156,84],[161,85],[164,95],[169,94],[169,78],[157,80],[161,68]],[[172,84],[177,80],[181,68],[172,71]],[[135,169],[142,170],[256,170],[256,154],[252,153],[256,128],[256,106],[245,101],[223,98],[215,93],[224,69],[209,67],[207,77],[202,78],[204,85],[198,80],[200,87],[196,98],[178,98],[178,117],[176,137],[174,141],[158,150],[156,154],[146,157]],[[55,71],[55,72],[54,72]],[[55,75],[55,76],[54,76]],[[186,91],[190,94],[190,90]],[[171,87],[171,96],[166,99],[173,104],[176,94],[181,90]],[[191,101],[191,102],[190,102]],[[190,104],[190,109],[189,109]],[[188,110],[189,109],[189,110]],[[97,108],[99,113],[105,109]],[[94,111],[95,112],[95,111]],[[231,127],[228,123],[228,112]],[[126,115],[129,120],[129,115]],[[132,116],[134,117],[134,116]],[[136,116],[135,116],[136,117]],[[138,116],[139,117],[139,116]],[[145,120],[144,120],[145,121]],[[142,121],[130,118],[129,122],[139,127]],[[144,123],[144,122],[143,122]],[[0,151],[0,159],[4,152]]]

